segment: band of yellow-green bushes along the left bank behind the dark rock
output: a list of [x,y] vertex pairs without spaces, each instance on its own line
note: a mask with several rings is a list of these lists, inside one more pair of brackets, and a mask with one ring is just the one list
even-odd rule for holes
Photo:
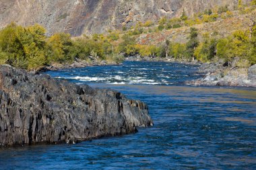
[[73,62],[75,58],[87,60],[88,56],[104,59],[112,57],[117,49],[111,42],[119,39],[119,33],[111,31],[107,36],[71,39],[69,34],[57,33],[47,38],[46,30],[36,24],[26,28],[9,24],[0,30],[0,63],[28,70],[36,70],[53,62]]

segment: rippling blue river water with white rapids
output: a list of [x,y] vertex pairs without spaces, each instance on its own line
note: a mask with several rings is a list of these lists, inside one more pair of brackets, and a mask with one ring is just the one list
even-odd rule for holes
[[256,169],[256,91],[193,87],[197,66],[125,62],[49,71],[148,103],[154,126],[79,144],[0,150],[0,169]]

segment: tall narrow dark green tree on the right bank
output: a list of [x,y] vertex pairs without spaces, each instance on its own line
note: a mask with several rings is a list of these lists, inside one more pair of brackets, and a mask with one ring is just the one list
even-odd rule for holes
[[189,42],[187,42],[187,56],[195,60],[195,48],[199,45],[198,33],[196,28],[190,28]]

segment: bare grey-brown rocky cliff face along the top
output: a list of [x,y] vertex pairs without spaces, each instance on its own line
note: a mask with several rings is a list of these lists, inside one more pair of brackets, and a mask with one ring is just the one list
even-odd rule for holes
[[[244,3],[250,0],[244,0]],[[42,24],[49,32],[69,32],[73,36],[100,33],[134,25],[162,16],[180,16],[183,9],[193,15],[205,9],[238,0],[0,0],[0,28],[10,22],[23,26]]]

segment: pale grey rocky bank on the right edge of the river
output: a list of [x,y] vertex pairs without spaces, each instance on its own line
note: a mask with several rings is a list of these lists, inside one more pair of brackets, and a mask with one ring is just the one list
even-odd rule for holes
[[218,85],[256,87],[256,65],[252,67],[225,66],[223,61],[203,64],[200,73],[205,73],[201,79],[188,81],[187,85]]

